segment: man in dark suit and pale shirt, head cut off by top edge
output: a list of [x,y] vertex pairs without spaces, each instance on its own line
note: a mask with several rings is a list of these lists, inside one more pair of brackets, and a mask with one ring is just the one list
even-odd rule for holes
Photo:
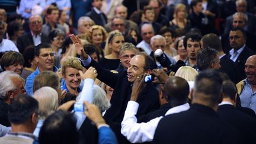
[[92,1],[92,10],[89,11],[86,16],[94,20],[95,24],[101,25],[104,27],[107,24],[107,17],[103,12],[100,11],[102,6],[102,0],[93,0]]

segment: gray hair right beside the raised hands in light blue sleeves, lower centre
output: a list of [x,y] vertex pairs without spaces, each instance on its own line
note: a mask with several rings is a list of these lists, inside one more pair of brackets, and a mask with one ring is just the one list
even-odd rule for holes
[[101,112],[110,108],[111,104],[107,99],[107,94],[98,85],[94,85],[94,98],[92,104],[97,105]]

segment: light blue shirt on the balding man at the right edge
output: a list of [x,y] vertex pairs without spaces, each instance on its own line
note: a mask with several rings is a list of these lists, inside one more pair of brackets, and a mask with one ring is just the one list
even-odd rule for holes
[[248,107],[254,110],[256,113],[256,91],[252,91],[251,85],[249,85],[248,79],[244,81],[244,88],[239,95],[242,107]]

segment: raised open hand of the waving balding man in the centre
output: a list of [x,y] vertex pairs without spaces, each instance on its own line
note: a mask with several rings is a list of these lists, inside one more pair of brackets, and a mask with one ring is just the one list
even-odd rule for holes
[[82,41],[79,39],[79,37],[72,34],[71,40],[73,41],[73,44],[75,45],[76,53],[81,57],[82,60],[87,60],[88,55],[87,55],[87,53],[85,53],[84,47],[82,45]]

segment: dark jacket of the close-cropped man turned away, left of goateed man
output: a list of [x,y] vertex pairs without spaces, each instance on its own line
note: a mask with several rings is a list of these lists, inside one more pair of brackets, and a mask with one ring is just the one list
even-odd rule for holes
[[238,66],[235,62],[233,62],[227,55],[223,56],[220,59],[220,71],[225,72],[231,81],[235,84],[237,84],[239,81],[241,81],[238,78]]

